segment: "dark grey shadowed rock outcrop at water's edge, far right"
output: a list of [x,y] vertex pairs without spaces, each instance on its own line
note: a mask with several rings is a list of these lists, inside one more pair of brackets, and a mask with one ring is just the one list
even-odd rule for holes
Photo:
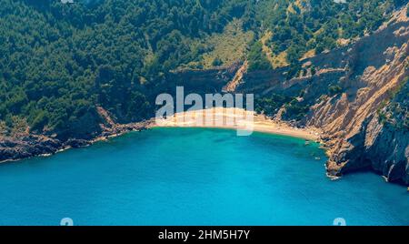
[[334,159],[344,162],[330,167],[332,174],[371,168],[390,182],[409,184],[409,131],[383,124],[378,116],[364,121],[359,133],[349,138]]

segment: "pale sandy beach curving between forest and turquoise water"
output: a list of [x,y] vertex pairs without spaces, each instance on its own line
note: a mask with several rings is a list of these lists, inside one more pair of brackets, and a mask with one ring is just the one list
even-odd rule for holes
[[[242,108],[214,107],[203,110],[176,113],[173,117],[156,120],[152,127],[220,127],[253,130],[290,137],[318,141],[321,132],[316,128],[291,127]],[[206,119],[206,117],[210,117]]]

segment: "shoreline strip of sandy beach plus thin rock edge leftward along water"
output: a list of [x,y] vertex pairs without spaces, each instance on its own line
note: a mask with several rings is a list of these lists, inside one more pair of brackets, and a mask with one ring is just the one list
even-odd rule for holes
[[[195,121],[192,121],[192,119],[190,119],[189,121],[189,118],[192,118],[195,116],[205,116],[207,112],[210,112],[210,114],[213,117],[210,124],[205,123],[205,125],[202,125],[202,124],[198,125],[195,123]],[[139,123],[132,123],[128,125],[117,125],[121,129],[116,130],[116,131],[105,131],[105,135],[95,137],[90,140],[81,140],[82,144],[80,144],[77,147],[88,147],[98,141],[104,141],[104,140],[107,140],[113,137],[120,137],[120,136],[125,135],[128,132],[141,131],[141,130],[149,129],[153,127],[209,127],[209,128],[226,128],[226,129],[237,130],[243,127],[251,126],[252,130],[256,132],[274,134],[274,135],[282,135],[282,136],[288,136],[288,137],[297,137],[297,138],[302,138],[305,140],[310,140],[310,141],[321,143],[320,137],[322,133],[317,128],[291,127],[282,121],[273,120],[268,117],[264,117],[264,116],[256,115],[256,114],[253,114],[253,119],[250,121],[246,121],[245,119],[238,119],[240,117],[243,117],[243,115],[251,115],[251,114],[253,114],[253,112],[248,112],[241,108],[224,108],[224,107],[215,107],[215,108],[208,108],[208,109],[202,109],[202,110],[177,113],[173,117],[169,117],[166,119],[155,120],[155,118],[151,118],[149,120],[139,122]],[[224,122],[227,121],[227,119],[233,119],[234,124],[224,123],[218,119],[222,119],[222,121]],[[40,137],[44,137],[44,136],[40,136]],[[16,161],[20,161],[23,159],[36,158],[36,157],[49,157],[49,156],[55,155],[56,153],[63,152],[73,147],[74,146],[66,145],[65,143],[60,143],[60,146],[55,147],[54,151],[51,151],[51,152],[47,151],[45,153],[33,154],[28,157],[8,158],[5,160],[1,160],[0,163],[16,162]]]

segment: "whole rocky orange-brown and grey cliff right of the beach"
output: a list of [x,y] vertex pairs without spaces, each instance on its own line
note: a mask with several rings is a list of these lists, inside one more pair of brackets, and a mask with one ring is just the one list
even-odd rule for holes
[[395,119],[403,126],[394,127],[388,118],[384,121],[382,112],[409,109],[409,93],[404,89],[409,76],[408,53],[409,19],[403,9],[374,35],[304,59],[304,76],[287,79],[289,67],[252,72],[244,75],[236,92],[293,96],[308,105],[306,117],[295,123],[324,131],[330,176],[371,168],[388,181],[407,185],[408,113]]

